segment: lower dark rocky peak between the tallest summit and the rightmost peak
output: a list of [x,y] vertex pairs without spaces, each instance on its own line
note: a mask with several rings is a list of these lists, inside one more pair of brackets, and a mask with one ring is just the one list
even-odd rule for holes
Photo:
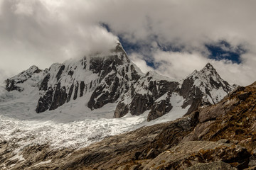
[[[140,93],[140,91],[144,91],[144,93]],[[171,111],[172,106],[169,98],[175,91],[178,91],[178,82],[167,81],[164,78],[163,80],[156,79],[155,74],[149,72],[132,86],[132,89],[127,92],[127,96],[124,96],[124,98],[130,100],[130,103],[124,103],[123,99],[118,103],[115,112],[119,113],[117,115],[125,115],[128,111],[119,109],[128,105],[129,112],[132,115],[141,115],[150,110],[147,120],[154,120]],[[156,102],[158,98],[165,94],[167,94],[166,98]]]

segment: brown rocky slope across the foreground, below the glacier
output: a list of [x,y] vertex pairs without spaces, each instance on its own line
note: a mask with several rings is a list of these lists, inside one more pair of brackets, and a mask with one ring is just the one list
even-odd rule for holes
[[81,149],[0,144],[1,169],[255,169],[256,82],[169,123]]

